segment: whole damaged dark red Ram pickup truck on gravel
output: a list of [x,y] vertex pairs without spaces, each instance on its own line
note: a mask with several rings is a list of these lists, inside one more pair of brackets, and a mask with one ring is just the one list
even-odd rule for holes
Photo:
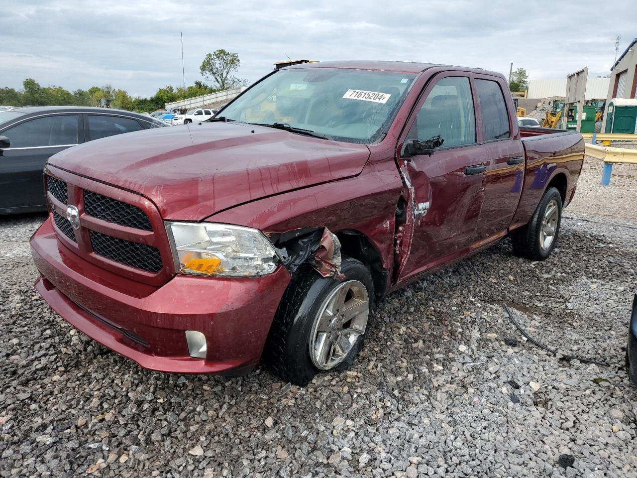
[[546,259],[580,134],[520,128],[505,78],[410,62],[278,69],[203,124],[45,168],[36,289],[141,366],[305,384],[345,370],[375,301],[510,236]]

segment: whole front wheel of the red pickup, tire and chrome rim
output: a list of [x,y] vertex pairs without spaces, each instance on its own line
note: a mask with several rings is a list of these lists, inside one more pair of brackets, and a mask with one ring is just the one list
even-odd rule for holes
[[283,380],[304,386],[317,372],[347,370],[361,350],[374,296],[371,275],[351,258],[341,272],[343,279],[332,279],[308,266],[283,294],[263,352]]

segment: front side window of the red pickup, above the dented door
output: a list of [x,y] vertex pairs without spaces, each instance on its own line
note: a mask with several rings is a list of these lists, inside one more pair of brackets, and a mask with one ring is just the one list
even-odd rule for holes
[[438,135],[444,140],[443,148],[476,142],[473,96],[466,76],[447,76],[434,85],[409,134],[420,141]]

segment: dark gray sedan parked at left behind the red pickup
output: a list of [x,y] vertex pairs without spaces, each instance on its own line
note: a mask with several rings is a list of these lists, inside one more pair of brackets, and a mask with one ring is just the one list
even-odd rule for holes
[[79,106],[0,111],[0,215],[47,210],[42,170],[86,141],[166,125],[137,113]]

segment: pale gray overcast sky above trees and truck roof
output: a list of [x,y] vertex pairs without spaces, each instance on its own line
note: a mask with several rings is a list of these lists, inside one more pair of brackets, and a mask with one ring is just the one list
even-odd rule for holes
[[[608,15],[604,16],[605,12]],[[133,95],[202,80],[206,52],[239,54],[254,82],[275,61],[373,59],[479,66],[508,75],[604,75],[637,36],[634,0],[312,1],[10,0],[0,87],[24,78],[69,90],[111,83]]]

